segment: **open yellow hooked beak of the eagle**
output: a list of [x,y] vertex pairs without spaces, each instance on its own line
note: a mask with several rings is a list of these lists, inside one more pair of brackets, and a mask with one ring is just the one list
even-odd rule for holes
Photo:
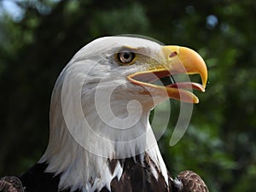
[[[133,84],[148,87],[159,94],[166,92],[167,96],[182,102],[199,102],[192,89],[205,91],[207,84],[207,66],[201,55],[194,50],[179,46],[163,46],[161,48],[163,61],[160,64],[153,64],[147,71],[132,73],[127,77]],[[154,84],[158,79],[170,77],[174,74],[199,74],[201,84],[193,82],[175,83],[173,80],[169,84]]]

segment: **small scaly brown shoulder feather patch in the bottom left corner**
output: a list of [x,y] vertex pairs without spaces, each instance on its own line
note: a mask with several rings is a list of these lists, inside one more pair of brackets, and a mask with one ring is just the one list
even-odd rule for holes
[[0,192],[24,192],[20,178],[15,176],[0,179]]

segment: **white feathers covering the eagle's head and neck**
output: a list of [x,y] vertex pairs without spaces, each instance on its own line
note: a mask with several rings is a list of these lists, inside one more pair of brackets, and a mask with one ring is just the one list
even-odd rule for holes
[[[98,38],[80,49],[55,83],[50,106],[49,145],[39,162],[46,172],[61,173],[60,189],[94,191],[121,177],[108,160],[147,153],[167,183],[166,166],[154,138],[148,115],[163,98],[141,95],[145,88],[126,76],[149,63],[120,66],[114,54],[130,47],[157,61],[160,44],[142,38]],[[157,177],[156,174],[154,174]]]

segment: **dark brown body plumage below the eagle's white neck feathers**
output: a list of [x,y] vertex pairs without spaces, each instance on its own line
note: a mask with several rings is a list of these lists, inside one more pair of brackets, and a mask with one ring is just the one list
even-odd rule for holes
[[[109,160],[109,169],[112,172],[118,161],[124,171],[120,179],[113,178],[110,183],[111,192],[209,192],[201,177],[192,171],[180,172],[175,179],[169,175],[168,185],[160,172],[157,172],[158,177],[155,178],[150,167],[150,165],[154,166],[154,163],[148,155],[143,162],[139,158]],[[58,189],[61,174],[55,176],[52,173],[45,173],[46,167],[47,164],[36,164],[20,178],[14,176],[1,178],[0,192],[70,192],[70,189],[61,191]],[[99,191],[109,192],[106,187],[95,190],[95,192]]]

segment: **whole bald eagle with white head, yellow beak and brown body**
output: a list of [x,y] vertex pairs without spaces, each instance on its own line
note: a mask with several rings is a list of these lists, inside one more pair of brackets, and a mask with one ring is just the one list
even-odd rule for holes
[[[176,83],[179,73],[199,74],[201,84]],[[188,89],[204,91],[206,84],[206,64],[192,49],[135,37],[92,41],[56,80],[44,155],[16,180],[3,177],[0,190],[208,191],[195,172],[171,177],[148,122],[168,98],[199,102]]]

